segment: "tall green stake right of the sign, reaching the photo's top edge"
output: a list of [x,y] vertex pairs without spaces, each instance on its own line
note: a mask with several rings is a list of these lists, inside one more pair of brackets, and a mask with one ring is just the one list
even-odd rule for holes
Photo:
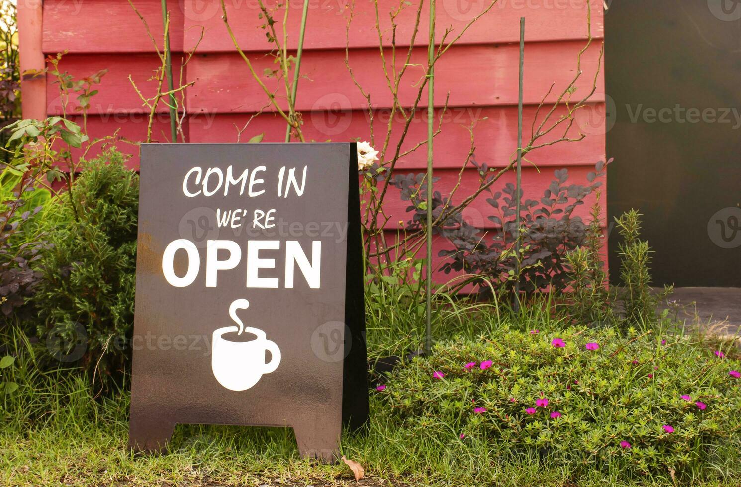
[[427,49],[427,276],[425,283],[425,354],[432,352],[432,139],[434,135],[435,0],[430,0],[430,44]]

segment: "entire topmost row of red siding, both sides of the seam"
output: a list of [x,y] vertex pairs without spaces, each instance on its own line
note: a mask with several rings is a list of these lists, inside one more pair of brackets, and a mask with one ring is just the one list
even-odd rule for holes
[[[266,4],[274,9],[278,0]],[[399,7],[398,0],[379,0],[384,44],[391,45],[389,13]],[[149,24],[152,36],[162,47],[162,12],[159,0],[135,0],[139,13]],[[265,30],[260,28],[257,0],[227,0],[230,25],[245,51],[270,49]],[[288,2],[288,46],[295,49],[301,21],[302,0]],[[396,17],[396,45],[408,46],[419,0],[404,8]],[[403,4],[402,4],[403,5]],[[423,5],[415,44],[428,39],[428,7]],[[448,38],[457,36],[482,13],[488,0],[442,0],[438,3],[436,38],[450,29]],[[173,50],[191,50],[204,30],[200,52],[232,52],[234,46],[222,21],[219,0],[179,0],[168,2],[170,43]],[[310,0],[304,42],[305,49],[344,49],[350,13],[350,0]],[[375,4],[359,0],[354,4],[350,23],[350,48],[377,47]],[[586,0],[497,0],[494,7],[476,21],[459,40],[461,44],[500,44],[519,40],[519,17],[526,19],[526,41],[562,41],[587,37]],[[276,16],[282,36],[282,13]],[[591,0],[591,34],[603,36],[602,0]],[[142,21],[124,0],[46,0],[44,1],[45,53],[148,53],[152,41]]]

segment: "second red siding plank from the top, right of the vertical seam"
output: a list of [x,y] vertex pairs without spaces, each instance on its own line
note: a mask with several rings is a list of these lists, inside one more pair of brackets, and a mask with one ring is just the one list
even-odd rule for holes
[[[554,89],[546,101],[555,101],[576,73],[576,58],[584,47],[582,41],[534,43],[525,47],[525,104],[537,104]],[[418,48],[411,63],[419,64],[408,68],[399,87],[399,99],[403,106],[413,106],[416,84],[424,75],[423,65],[427,51]],[[302,61],[304,79],[299,88],[296,102],[299,111],[322,110],[325,104],[336,101],[345,110],[367,107],[365,98],[344,64],[345,52],[339,50],[306,53]],[[500,47],[461,46],[445,53],[436,65],[435,106],[448,101],[451,107],[473,105],[513,105],[517,103],[517,66],[519,50],[514,44]],[[576,83],[575,98],[588,94],[599,66],[599,43],[593,43],[582,56],[582,75]],[[403,61],[399,61],[402,64]],[[273,60],[266,56],[253,56],[257,73],[274,68]],[[350,52],[350,67],[371,102],[376,108],[391,107],[382,62],[376,50],[353,50]],[[188,81],[196,81],[187,90],[188,110],[200,112],[256,112],[263,110],[266,95],[250,77],[247,66],[236,54],[196,55],[187,67]],[[277,96],[285,101],[285,90],[279,87],[274,77],[263,77],[263,81]],[[594,101],[604,100],[602,75],[597,77],[597,95]],[[426,106],[426,95],[419,107]],[[285,108],[285,103],[282,103]],[[269,109],[268,109],[269,110]]]

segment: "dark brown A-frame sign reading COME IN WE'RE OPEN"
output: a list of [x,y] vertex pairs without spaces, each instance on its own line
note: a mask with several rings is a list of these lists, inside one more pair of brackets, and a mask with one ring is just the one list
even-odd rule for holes
[[368,418],[355,144],[142,144],[129,446]]

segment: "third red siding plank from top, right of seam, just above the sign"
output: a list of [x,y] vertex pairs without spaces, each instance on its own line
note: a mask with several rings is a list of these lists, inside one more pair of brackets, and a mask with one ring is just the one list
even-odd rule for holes
[[[334,110],[333,110],[334,107]],[[371,141],[370,117],[368,112],[360,110],[342,111],[338,105],[329,104],[325,111],[303,114],[304,135],[309,141],[350,141],[359,138]],[[576,112],[576,123],[568,132],[570,137],[578,137],[579,132],[586,135],[579,143],[559,142],[542,147],[529,153],[527,158],[536,167],[566,167],[588,165],[594,166],[599,159],[605,158],[604,104],[590,104]],[[525,140],[531,133],[532,121],[536,107],[525,107],[523,123]],[[551,123],[559,120],[566,112],[560,107],[551,116]],[[441,110],[436,110],[439,120]],[[253,135],[264,133],[266,142],[282,142],[285,138],[285,122],[274,113],[263,113],[250,121],[253,114],[213,114],[197,113],[190,117],[190,142],[246,142]],[[376,111],[373,114],[374,147],[379,150],[385,140],[390,110]],[[539,113],[539,121],[545,116],[545,110]],[[409,125],[405,144],[400,153],[411,150],[416,144],[419,148],[399,159],[399,169],[422,169],[427,167],[427,150],[424,142],[427,139],[426,113],[417,112]],[[473,127],[476,160],[490,167],[504,167],[516,150],[517,141],[517,108],[516,107],[461,107],[453,108],[443,115],[441,132],[435,138],[435,167],[459,168],[471,149],[469,127]],[[395,115],[392,138],[388,146],[389,158],[396,151],[396,145],[405,121]],[[436,123],[437,125],[437,123]],[[562,124],[563,130],[566,124]],[[542,141],[554,141],[563,135],[563,130],[554,130],[545,135]]]

